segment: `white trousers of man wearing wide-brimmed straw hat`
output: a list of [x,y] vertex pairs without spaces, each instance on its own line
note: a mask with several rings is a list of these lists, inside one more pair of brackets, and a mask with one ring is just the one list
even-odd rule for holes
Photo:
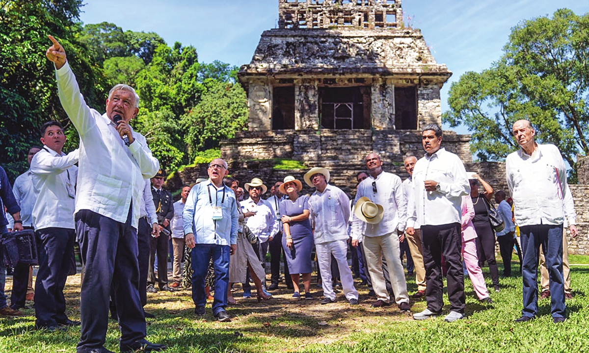
[[346,295],[346,299],[358,299],[358,291],[354,287],[352,271],[350,271],[346,257],[348,254],[348,243],[346,240],[342,239],[315,244],[315,251],[317,253],[317,262],[319,262],[319,271],[321,272],[323,295],[326,298],[335,300],[331,275],[331,255],[333,255],[337,261],[337,268],[339,268],[339,276],[342,280],[343,293]]

